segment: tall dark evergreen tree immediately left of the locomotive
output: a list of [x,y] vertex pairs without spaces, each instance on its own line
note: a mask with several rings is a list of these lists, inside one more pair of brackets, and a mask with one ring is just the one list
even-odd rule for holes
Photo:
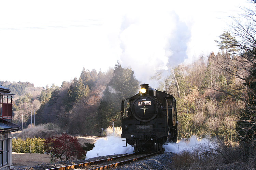
[[106,128],[115,121],[116,126],[121,125],[121,102],[137,94],[139,81],[134,78],[130,68],[122,68],[119,63],[115,64],[113,77],[104,90],[104,97],[99,106],[99,126]]

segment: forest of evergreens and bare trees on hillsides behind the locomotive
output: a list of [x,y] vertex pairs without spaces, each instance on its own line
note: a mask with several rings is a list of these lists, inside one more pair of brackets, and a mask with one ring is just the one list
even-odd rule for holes
[[[159,71],[152,79],[159,84],[157,90],[177,100],[178,140],[217,136],[224,142],[240,143],[255,156],[256,13],[244,10],[247,21],[234,19],[230,29],[219,35],[219,52],[177,65],[168,77]],[[106,72],[83,68],[79,78],[64,81],[60,87],[0,84],[17,94],[14,123],[21,125],[22,114],[26,126],[34,123],[31,113],[35,112],[36,125],[51,122],[70,134],[99,135],[112,121],[120,126],[121,102],[138,93],[140,82],[132,68],[123,68],[117,61]]]

